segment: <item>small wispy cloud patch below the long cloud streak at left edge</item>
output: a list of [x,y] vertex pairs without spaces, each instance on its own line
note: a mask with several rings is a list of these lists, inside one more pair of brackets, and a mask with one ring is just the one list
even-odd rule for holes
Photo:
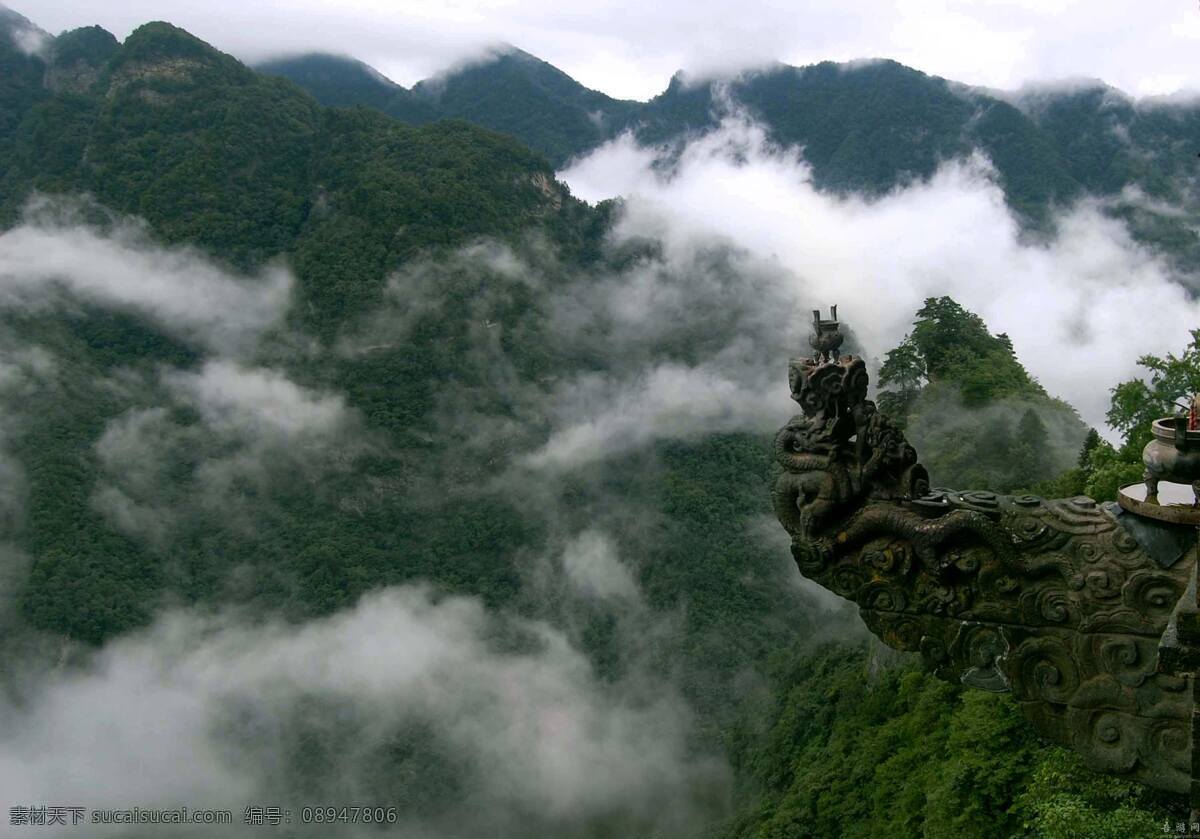
[[92,496],[114,526],[152,544],[181,516],[220,513],[223,525],[245,525],[247,486],[344,473],[371,445],[341,396],[278,371],[209,361],[160,378],[164,404],[131,408],[97,441],[103,479]]

